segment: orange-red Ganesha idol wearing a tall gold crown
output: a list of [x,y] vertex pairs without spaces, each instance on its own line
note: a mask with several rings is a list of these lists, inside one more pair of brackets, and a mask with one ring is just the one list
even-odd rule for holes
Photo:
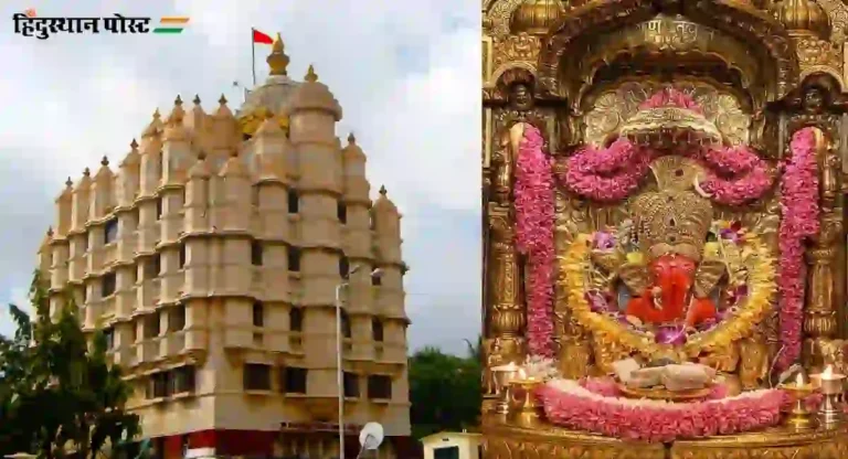
[[593,260],[626,289],[618,295],[624,313],[651,325],[695,328],[714,322],[718,310],[710,295],[725,265],[718,258],[718,243],[707,242],[710,201],[672,189],[640,194],[630,210],[629,247],[593,252]]

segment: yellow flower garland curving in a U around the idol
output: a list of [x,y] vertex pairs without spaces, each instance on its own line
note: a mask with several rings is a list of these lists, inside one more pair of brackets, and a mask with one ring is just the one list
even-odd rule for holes
[[591,330],[596,339],[608,344],[622,344],[630,351],[648,356],[662,356],[685,352],[696,357],[701,352],[724,349],[751,334],[754,327],[772,309],[777,291],[775,260],[768,247],[754,234],[746,233],[742,248],[742,263],[748,268],[748,298],[739,312],[703,332],[691,334],[682,346],[660,344],[647,333],[639,333],[617,320],[593,312],[585,299],[585,273],[591,267],[591,239],[589,234],[579,235],[558,257],[560,276],[558,282],[566,292],[568,308],[574,319]]

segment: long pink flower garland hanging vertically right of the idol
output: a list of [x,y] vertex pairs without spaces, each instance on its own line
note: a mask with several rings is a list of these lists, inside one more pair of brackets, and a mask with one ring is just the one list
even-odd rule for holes
[[780,242],[781,335],[783,352],[777,367],[785,369],[801,354],[801,328],[804,314],[806,265],[804,239],[818,233],[818,170],[816,137],[813,128],[804,128],[789,143],[792,158],[786,163],[781,183]]

